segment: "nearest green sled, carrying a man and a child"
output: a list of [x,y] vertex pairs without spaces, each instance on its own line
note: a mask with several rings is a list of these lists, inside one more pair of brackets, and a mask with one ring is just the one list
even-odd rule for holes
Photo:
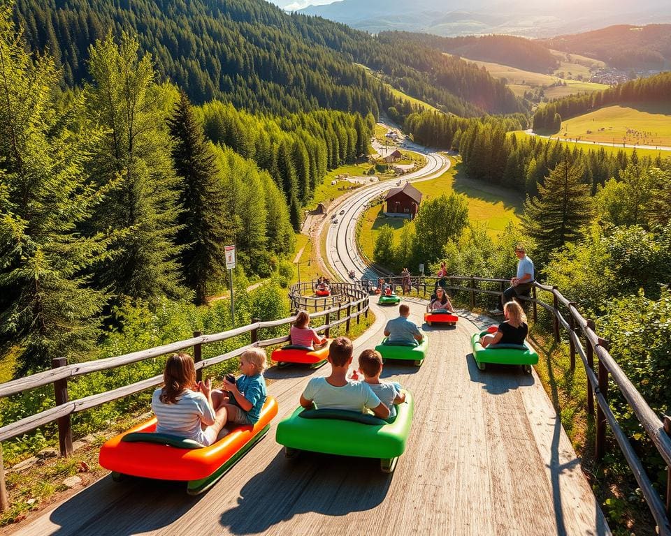
[[275,440],[287,456],[298,450],[380,459],[383,472],[392,472],[405,452],[414,403],[405,391],[405,402],[396,406],[393,422],[375,415],[347,410],[297,408],[277,425]]

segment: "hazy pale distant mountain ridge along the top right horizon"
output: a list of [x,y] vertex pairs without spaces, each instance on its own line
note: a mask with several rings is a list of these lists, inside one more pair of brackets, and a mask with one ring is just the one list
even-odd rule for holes
[[385,30],[419,31],[438,36],[510,34],[548,38],[612,24],[671,22],[667,0],[340,0],[309,6],[299,13],[377,34]]

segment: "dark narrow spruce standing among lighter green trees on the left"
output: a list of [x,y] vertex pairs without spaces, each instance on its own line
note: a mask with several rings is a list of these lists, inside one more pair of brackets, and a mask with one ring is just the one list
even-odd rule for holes
[[177,244],[183,248],[182,273],[187,286],[196,292],[196,303],[204,304],[208,284],[225,274],[224,246],[233,241],[233,224],[226,212],[228,200],[215,157],[184,91],[180,91],[168,128],[174,141],[175,172],[181,179]]

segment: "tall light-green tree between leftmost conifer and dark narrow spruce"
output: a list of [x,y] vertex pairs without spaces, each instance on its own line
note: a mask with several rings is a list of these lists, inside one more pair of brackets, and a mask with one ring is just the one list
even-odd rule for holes
[[119,255],[101,266],[97,279],[130,297],[183,295],[180,248],[173,242],[177,178],[162,102],[169,89],[154,84],[149,54],[138,59],[138,42],[127,34],[120,45],[108,34],[92,46],[89,69],[89,117],[106,130],[92,169],[99,184],[120,177],[96,211],[96,228],[124,232]]

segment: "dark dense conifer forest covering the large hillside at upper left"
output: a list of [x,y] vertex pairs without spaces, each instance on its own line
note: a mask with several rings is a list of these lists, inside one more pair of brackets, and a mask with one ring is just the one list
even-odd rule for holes
[[136,34],[157,72],[196,104],[219,98],[252,111],[326,107],[377,117],[391,96],[356,62],[447,112],[521,109],[504,84],[466,62],[321,18],[287,15],[265,0],[17,0],[15,20],[32,50],[48,50],[62,64],[68,85],[89,80],[88,47],[111,30]]

